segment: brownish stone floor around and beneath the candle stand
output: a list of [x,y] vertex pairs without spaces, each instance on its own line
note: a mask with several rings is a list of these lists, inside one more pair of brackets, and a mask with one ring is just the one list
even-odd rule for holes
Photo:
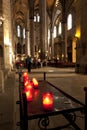
[[[43,74],[36,74],[36,72],[40,71],[53,72],[46,75],[46,80],[84,103],[84,87],[87,86],[87,75],[76,74],[74,68],[44,67],[32,69],[29,74],[30,79],[32,77],[43,79]],[[0,130],[20,129],[19,126],[16,126],[16,123],[19,121],[19,105],[16,104],[16,101],[19,100],[18,85],[18,74],[12,72],[5,81],[4,93],[0,93]],[[66,123],[62,116],[51,117],[50,120],[51,127]],[[29,130],[39,130],[37,123],[38,120],[29,121]],[[83,113],[77,113],[77,123],[81,130],[84,130]],[[64,130],[74,130],[74,128],[68,127]]]

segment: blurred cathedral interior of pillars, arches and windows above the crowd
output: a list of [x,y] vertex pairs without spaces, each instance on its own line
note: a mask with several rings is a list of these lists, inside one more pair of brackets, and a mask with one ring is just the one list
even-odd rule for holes
[[[27,55],[87,73],[86,0],[0,0],[0,69]],[[53,64],[51,64],[53,65]]]

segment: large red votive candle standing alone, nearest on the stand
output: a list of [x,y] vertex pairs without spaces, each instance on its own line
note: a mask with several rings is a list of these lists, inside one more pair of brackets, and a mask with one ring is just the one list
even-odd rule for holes
[[51,92],[43,93],[42,103],[43,103],[44,110],[52,110],[53,109],[53,94]]

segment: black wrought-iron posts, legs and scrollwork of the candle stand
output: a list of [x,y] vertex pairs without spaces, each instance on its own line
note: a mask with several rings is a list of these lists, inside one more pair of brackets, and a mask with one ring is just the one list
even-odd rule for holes
[[[44,74],[44,80],[46,80],[46,72],[43,72]],[[17,123],[17,125],[20,126],[20,130],[28,130],[28,112],[27,112],[27,100],[26,100],[26,94],[23,93],[21,91],[21,87],[23,84],[21,82],[21,78],[22,78],[22,72],[19,73],[19,100],[20,101],[17,101],[17,104],[20,105],[20,122]],[[49,83],[50,84],[50,83]],[[84,88],[84,91],[85,91],[85,105],[84,105],[84,112],[85,112],[85,128],[84,130],[87,130],[87,87]],[[67,94],[66,94],[67,95]],[[78,101],[77,101],[78,102]],[[47,129],[47,126],[49,125],[49,117],[48,116],[44,116],[41,117],[39,119],[39,122],[38,122],[38,126],[41,130],[54,130],[54,129],[58,129],[58,130],[61,130],[63,128],[66,128],[68,127],[70,124],[74,126],[74,128],[76,130],[81,130],[74,122],[76,120],[76,114],[73,112],[73,113],[63,113],[63,116],[69,121],[69,123],[67,123],[66,125],[64,126],[59,126],[57,128],[49,128]],[[38,117],[39,118],[39,117]]]

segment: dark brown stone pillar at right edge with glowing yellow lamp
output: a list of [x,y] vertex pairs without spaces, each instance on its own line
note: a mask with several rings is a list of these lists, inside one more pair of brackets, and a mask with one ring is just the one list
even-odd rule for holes
[[[77,1],[76,9],[76,72],[87,74],[87,0]],[[78,33],[79,32],[79,33]],[[79,69],[78,69],[79,68]]]

